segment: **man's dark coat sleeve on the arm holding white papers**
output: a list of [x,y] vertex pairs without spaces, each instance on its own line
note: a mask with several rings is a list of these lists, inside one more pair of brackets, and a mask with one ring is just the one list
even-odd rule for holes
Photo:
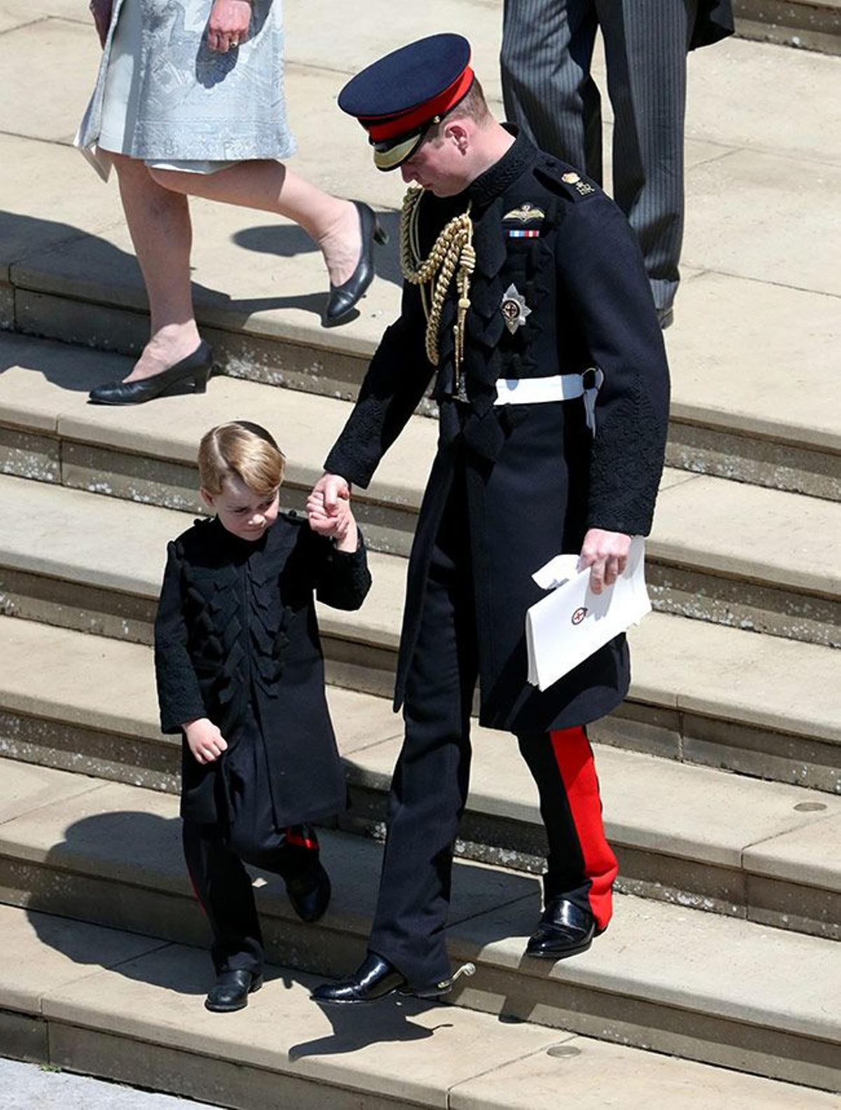
[[559,281],[605,374],[587,527],[647,535],[666,451],[669,367],[642,256],[602,193],[569,204],[558,234]]

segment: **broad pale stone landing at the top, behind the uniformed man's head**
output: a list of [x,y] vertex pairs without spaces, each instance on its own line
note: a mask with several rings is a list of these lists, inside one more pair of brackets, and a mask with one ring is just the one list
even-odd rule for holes
[[[318,10],[330,28],[326,3]],[[452,0],[446,17],[407,9],[395,26],[394,13],[383,23],[374,4],[361,13],[359,33],[337,49],[312,4],[290,7],[295,30],[285,83],[291,118],[303,129],[292,165],[376,204],[394,231],[402,183],[372,170],[358,128],[335,110],[336,92],[374,51],[439,30],[444,18],[470,34],[498,107],[498,13],[493,4],[477,11],[469,0]],[[0,319],[19,331],[130,352],[148,323],[116,191],[113,183],[102,188],[67,145],[98,51],[89,27],[63,18],[12,26],[2,36],[10,93],[0,107],[9,210],[0,224]],[[63,68],[61,98],[33,94],[68,57],[74,64]],[[837,67],[837,59],[737,41],[691,57],[685,280],[667,335],[672,465],[835,498],[839,285],[825,225],[837,214],[827,205],[841,192]],[[596,75],[604,84],[600,60]],[[693,88],[703,94],[693,97]],[[820,188],[820,215],[803,211],[792,184],[803,165]],[[327,331],[320,323],[322,263],[298,229],[206,202],[192,210],[197,311],[226,372],[355,395],[397,310],[394,246],[378,252],[379,280],[358,316]]]

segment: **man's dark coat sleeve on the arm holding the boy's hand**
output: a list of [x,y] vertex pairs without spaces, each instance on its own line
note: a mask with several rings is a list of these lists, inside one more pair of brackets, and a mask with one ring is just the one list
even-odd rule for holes
[[420,295],[404,285],[399,320],[383,333],[351,416],[324,468],[366,487],[420,402],[433,366],[424,350]]

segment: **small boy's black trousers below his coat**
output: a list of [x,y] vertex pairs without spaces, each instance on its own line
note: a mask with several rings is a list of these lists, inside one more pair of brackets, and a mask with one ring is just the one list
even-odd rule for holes
[[196,898],[213,931],[211,957],[222,971],[263,969],[263,936],[254,890],[243,864],[280,875],[284,880],[308,875],[318,866],[318,839],[308,825],[262,836],[223,835],[219,825],[185,820],[184,858]]

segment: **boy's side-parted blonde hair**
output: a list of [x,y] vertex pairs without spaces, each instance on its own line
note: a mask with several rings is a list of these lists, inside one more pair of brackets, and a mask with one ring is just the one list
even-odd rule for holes
[[267,497],[283,482],[286,460],[264,427],[247,420],[212,427],[199,445],[199,477],[213,496],[225,478],[235,475],[259,497]]

